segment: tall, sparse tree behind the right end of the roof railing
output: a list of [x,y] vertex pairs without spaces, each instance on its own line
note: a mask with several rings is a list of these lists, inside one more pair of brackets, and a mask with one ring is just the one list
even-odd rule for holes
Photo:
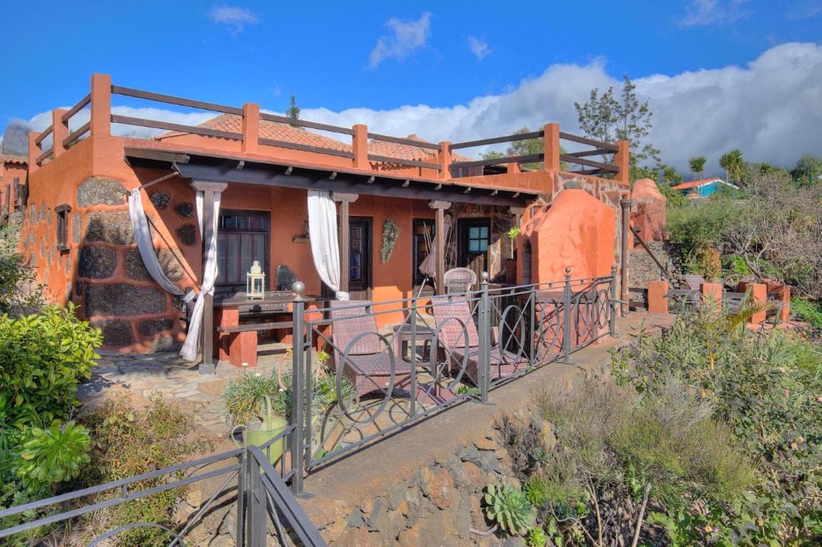
[[613,87],[603,94],[594,88],[586,103],[574,103],[585,136],[607,142],[627,140],[630,143],[631,178],[635,178],[637,168],[645,161],[653,159],[659,163],[659,150],[645,141],[653,127],[653,113],[648,101],[641,102],[635,90],[636,85],[628,76],[623,76],[619,99]]

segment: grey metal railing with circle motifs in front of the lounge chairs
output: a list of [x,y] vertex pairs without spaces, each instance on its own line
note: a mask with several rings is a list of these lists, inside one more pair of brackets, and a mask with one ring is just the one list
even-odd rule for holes
[[[293,301],[292,393],[295,469],[311,473],[344,454],[446,408],[475,401],[502,384],[614,333],[616,273],[603,277],[390,302],[335,301],[306,310]],[[430,314],[427,312],[431,312]],[[378,329],[399,318],[393,329]],[[333,365],[316,358],[319,348]],[[332,397],[315,393],[334,375]],[[323,397],[326,404],[318,398]],[[331,402],[328,403],[328,399]],[[293,477],[295,492],[302,476]]]

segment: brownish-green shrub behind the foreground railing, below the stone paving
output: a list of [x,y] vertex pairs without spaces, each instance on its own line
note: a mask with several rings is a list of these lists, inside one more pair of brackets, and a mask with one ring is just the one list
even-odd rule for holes
[[[109,482],[156,471],[185,462],[212,449],[203,439],[192,439],[192,416],[179,407],[155,398],[150,405],[136,410],[126,398],[107,401],[85,421],[92,432],[91,468],[87,478],[91,484]],[[182,475],[158,477],[131,485],[130,490],[144,490],[180,479]],[[155,522],[173,528],[175,501],[185,495],[185,487],[177,487],[145,498],[107,509],[93,517],[91,526],[113,528],[131,522]],[[107,494],[102,499],[119,495]],[[100,501],[102,501],[100,499]],[[157,545],[168,540],[164,531],[137,528],[117,536],[118,545]]]

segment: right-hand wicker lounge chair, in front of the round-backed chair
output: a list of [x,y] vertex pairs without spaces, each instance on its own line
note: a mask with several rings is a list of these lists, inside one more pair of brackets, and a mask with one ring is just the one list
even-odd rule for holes
[[[442,347],[446,349],[446,354],[450,355],[450,362],[447,364],[448,373],[451,372],[451,365],[455,365],[459,369],[462,367],[463,361],[467,359],[465,375],[471,379],[474,385],[478,386],[479,333],[477,332],[477,325],[473,323],[469,302],[450,298],[449,296],[433,296],[431,307],[437,327],[445,324],[440,329],[438,338]],[[465,330],[459,322],[465,325]],[[515,372],[525,370],[529,365],[529,361],[525,356],[518,356],[502,349],[496,341],[492,343],[490,353],[491,380],[513,375]]]

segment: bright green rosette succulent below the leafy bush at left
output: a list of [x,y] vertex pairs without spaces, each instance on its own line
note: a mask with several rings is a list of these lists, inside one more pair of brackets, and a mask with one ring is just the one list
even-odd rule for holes
[[30,491],[48,492],[53,483],[72,480],[89,462],[89,430],[74,421],[54,422],[48,429],[28,431],[13,464],[21,484]]

